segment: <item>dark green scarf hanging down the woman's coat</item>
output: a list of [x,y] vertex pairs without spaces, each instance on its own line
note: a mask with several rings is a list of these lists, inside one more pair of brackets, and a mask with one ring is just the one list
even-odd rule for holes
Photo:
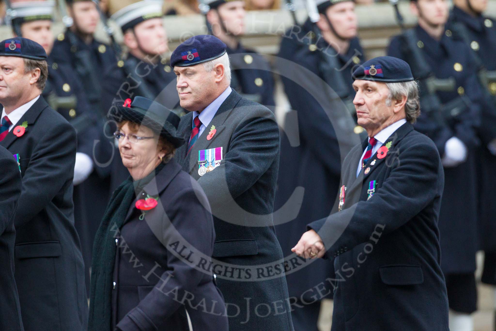
[[127,211],[135,199],[135,192],[141,192],[164,166],[161,163],[155,171],[135,182],[129,176],[114,191],[109,201],[93,243],[88,331],[111,331],[112,282],[117,251],[115,238],[119,235],[117,229],[120,230],[124,225]]

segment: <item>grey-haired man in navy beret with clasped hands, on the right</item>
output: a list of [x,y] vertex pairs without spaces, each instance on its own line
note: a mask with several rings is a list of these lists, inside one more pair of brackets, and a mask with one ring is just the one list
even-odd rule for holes
[[418,84],[392,57],[353,73],[368,139],[343,161],[333,212],[293,248],[334,262],[332,331],[448,330],[437,219],[444,173],[434,142],[413,129]]

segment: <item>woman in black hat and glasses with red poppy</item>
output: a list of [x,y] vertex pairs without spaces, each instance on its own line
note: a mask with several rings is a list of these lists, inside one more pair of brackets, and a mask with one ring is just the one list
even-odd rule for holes
[[228,330],[212,278],[210,206],[173,159],[185,142],[179,117],[142,97],[113,110],[131,176],[95,238],[88,330]]

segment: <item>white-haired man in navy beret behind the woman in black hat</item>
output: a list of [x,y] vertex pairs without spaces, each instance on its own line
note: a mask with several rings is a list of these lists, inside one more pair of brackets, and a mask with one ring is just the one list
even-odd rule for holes
[[230,87],[226,45],[194,36],[172,53],[187,143],[176,158],[212,208],[213,270],[229,329],[293,330],[272,212],[279,168],[279,129],[270,110]]

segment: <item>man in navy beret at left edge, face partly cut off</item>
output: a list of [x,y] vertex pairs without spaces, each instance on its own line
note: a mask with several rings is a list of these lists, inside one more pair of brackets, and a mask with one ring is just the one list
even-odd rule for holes
[[22,322],[25,330],[83,331],[88,303],[72,202],[76,132],[41,96],[43,47],[21,37],[0,45],[0,145],[14,154],[22,177],[14,217]]

